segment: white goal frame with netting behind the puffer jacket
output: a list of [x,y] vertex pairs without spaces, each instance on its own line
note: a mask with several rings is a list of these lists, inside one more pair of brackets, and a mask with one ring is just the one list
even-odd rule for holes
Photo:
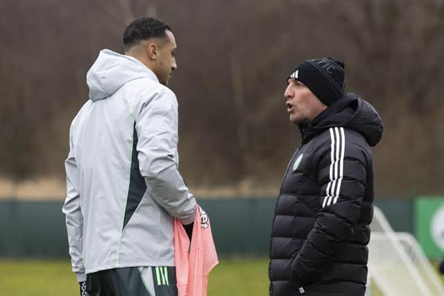
[[411,234],[394,232],[377,207],[370,228],[368,269],[384,296],[444,296],[441,279]]

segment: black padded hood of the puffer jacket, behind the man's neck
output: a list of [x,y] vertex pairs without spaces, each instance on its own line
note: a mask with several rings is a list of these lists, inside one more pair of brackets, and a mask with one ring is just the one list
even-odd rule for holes
[[384,129],[375,108],[356,94],[350,93],[330,105],[313,121],[302,121],[299,124],[302,143],[307,143],[317,134],[335,126],[356,130],[366,138],[370,146],[379,143]]

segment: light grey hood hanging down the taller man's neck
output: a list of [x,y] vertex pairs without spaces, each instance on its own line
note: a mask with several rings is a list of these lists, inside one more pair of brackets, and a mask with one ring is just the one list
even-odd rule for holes
[[127,82],[146,77],[159,81],[155,73],[139,60],[103,49],[86,76],[89,98],[99,101],[117,92]]

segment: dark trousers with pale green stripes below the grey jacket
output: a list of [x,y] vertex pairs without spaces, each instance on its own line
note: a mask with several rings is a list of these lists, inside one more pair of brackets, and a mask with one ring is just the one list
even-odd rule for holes
[[129,267],[87,275],[88,296],[177,296],[173,266]]

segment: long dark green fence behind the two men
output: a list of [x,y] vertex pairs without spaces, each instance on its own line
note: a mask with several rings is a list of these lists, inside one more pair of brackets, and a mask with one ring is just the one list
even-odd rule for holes
[[[200,200],[210,215],[214,241],[222,255],[268,254],[274,199]],[[396,231],[413,233],[413,203],[380,200]],[[0,256],[66,257],[62,202],[0,201]]]

